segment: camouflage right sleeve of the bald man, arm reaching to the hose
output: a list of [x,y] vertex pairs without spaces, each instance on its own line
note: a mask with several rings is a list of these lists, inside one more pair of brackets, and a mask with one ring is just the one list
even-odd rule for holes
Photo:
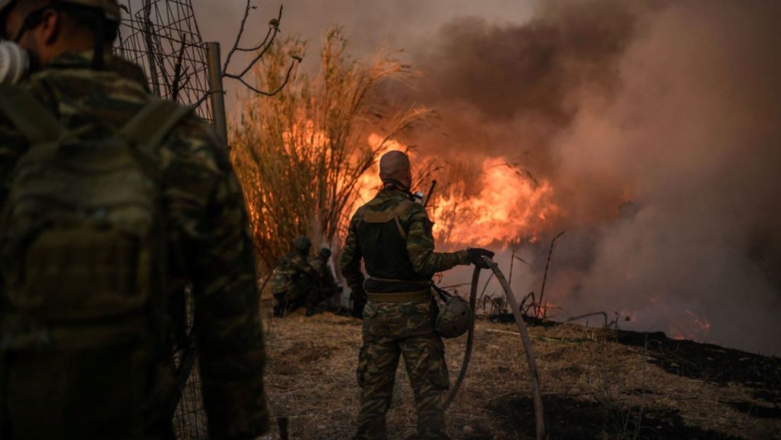
[[458,264],[469,264],[466,251],[434,252],[434,224],[423,206],[415,204],[408,215],[407,253],[415,272],[436,274]]

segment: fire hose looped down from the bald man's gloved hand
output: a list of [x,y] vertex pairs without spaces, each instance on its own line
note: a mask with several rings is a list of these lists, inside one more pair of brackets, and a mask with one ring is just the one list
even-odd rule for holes
[[[507,278],[505,278],[505,274],[501,273],[501,270],[499,270],[497,263],[494,263],[493,259],[490,259],[487,256],[483,256],[483,261],[485,261],[487,267],[493,271],[494,275],[499,281],[499,284],[501,284],[501,288],[505,291],[507,302],[512,309],[512,316],[515,318],[515,324],[517,325],[518,331],[521,334],[523,348],[526,350],[526,361],[529,363],[532,400],[534,402],[534,420],[537,431],[536,438],[537,440],[542,440],[545,438],[545,417],[542,403],[542,393],[540,392],[540,375],[537,372],[537,361],[535,360],[534,352],[532,350],[532,343],[531,339],[529,338],[529,332],[526,331],[526,324],[523,324],[523,317],[518,300],[515,299],[515,293],[512,292],[512,287],[510,287],[510,283],[507,281]],[[443,410],[448,410],[451,403],[455,399],[455,396],[458,394],[458,390],[461,388],[464,378],[466,377],[466,371],[469,369],[469,360],[472,359],[472,348],[475,337],[474,316],[477,301],[477,288],[480,282],[480,270],[481,267],[476,266],[472,274],[472,290],[469,293],[469,309],[472,310],[473,318],[472,323],[469,324],[469,331],[466,335],[466,350],[464,352],[464,360],[461,364],[461,370],[458,372],[458,378],[456,379],[455,384],[453,384],[451,387],[450,394],[444,400]],[[409,436],[405,440],[412,440],[413,438],[415,438],[415,435]]]

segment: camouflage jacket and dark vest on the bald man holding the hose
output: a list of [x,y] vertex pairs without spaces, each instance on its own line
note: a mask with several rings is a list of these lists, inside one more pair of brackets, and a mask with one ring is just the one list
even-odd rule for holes
[[[339,265],[353,292],[364,287],[368,292],[411,292],[437,272],[469,264],[465,251],[434,252],[433,222],[423,206],[408,200],[404,192],[386,187],[352,216]],[[401,204],[408,207],[398,215],[398,224],[364,221],[367,213],[393,211]],[[365,286],[362,259],[370,277]],[[395,281],[383,281],[389,279]]]

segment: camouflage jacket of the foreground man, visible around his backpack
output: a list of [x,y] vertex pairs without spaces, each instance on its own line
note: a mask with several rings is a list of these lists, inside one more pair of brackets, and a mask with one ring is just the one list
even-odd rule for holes
[[[115,134],[150,99],[144,73],[110,57],[90,70],[91,53],[69,53],[24,85],[82,139]],[[27,141],[0,114],[0,206]],[[192,283],[195,334],[210,438],[251,438],[268,429],[259,292],[241,188],[226,152],[197,116],[180,121],[159,150],[169,221],[171,279]],[[0,283],[2,286],[2,283]],[[2,288],[2,287],[0,287]]]

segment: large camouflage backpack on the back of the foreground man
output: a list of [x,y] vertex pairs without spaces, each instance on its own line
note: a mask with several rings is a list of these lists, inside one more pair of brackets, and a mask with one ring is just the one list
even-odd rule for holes
[[170,399],[155,156],[191,109],[155,100],[98,141],[20,89],[0,111],[30,145],[0,219],[0,437],[142,438]]

